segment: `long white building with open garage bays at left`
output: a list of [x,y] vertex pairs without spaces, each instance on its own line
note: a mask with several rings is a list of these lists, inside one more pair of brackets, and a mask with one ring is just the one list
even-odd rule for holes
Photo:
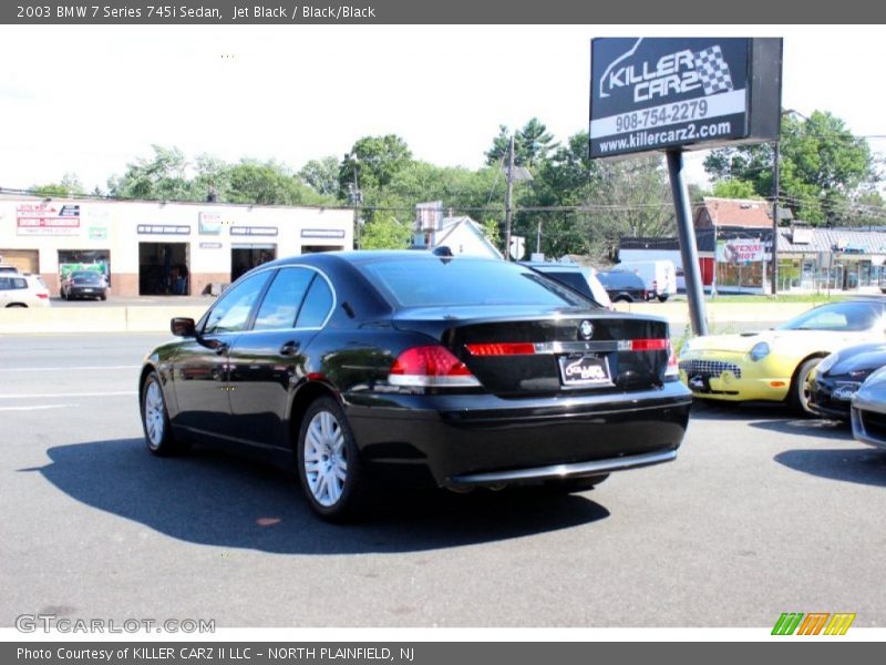
[[353,212],[0,196],[3,263],[58,293],[73,269],[119,296],[214,293],[267,260],[353,247]]

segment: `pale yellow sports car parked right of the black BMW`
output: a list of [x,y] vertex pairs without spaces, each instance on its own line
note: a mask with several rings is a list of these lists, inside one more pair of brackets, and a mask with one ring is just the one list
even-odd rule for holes
[[808,408],[807,380],[818,361],[843,347],[886,339],[886,299],[821,305],[764,332],[690,339],[679,357],[692,395],[728,401],[785,401]]

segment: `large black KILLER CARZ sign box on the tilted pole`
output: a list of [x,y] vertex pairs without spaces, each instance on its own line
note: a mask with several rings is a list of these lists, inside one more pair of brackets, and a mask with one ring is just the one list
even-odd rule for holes
[[775,141],[781,39],[591,41],[590,156]]

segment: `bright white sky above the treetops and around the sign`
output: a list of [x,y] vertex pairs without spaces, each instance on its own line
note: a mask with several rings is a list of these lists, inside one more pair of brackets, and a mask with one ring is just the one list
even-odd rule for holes
[[0,25],[0,187],[104,188],[155,143],[298,170],[388,133],[476,168],[499,124],[586,130],[589,40],[626,35],[784,37],[785,109],[886,134],[879,25]]

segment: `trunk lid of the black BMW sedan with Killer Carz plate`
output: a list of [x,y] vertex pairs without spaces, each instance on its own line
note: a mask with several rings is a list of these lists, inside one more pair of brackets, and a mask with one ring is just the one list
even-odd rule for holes
[[439,340],[502,397],[648,389],[670,349],[666,320],[596,309],[411,308],[393,325]]

